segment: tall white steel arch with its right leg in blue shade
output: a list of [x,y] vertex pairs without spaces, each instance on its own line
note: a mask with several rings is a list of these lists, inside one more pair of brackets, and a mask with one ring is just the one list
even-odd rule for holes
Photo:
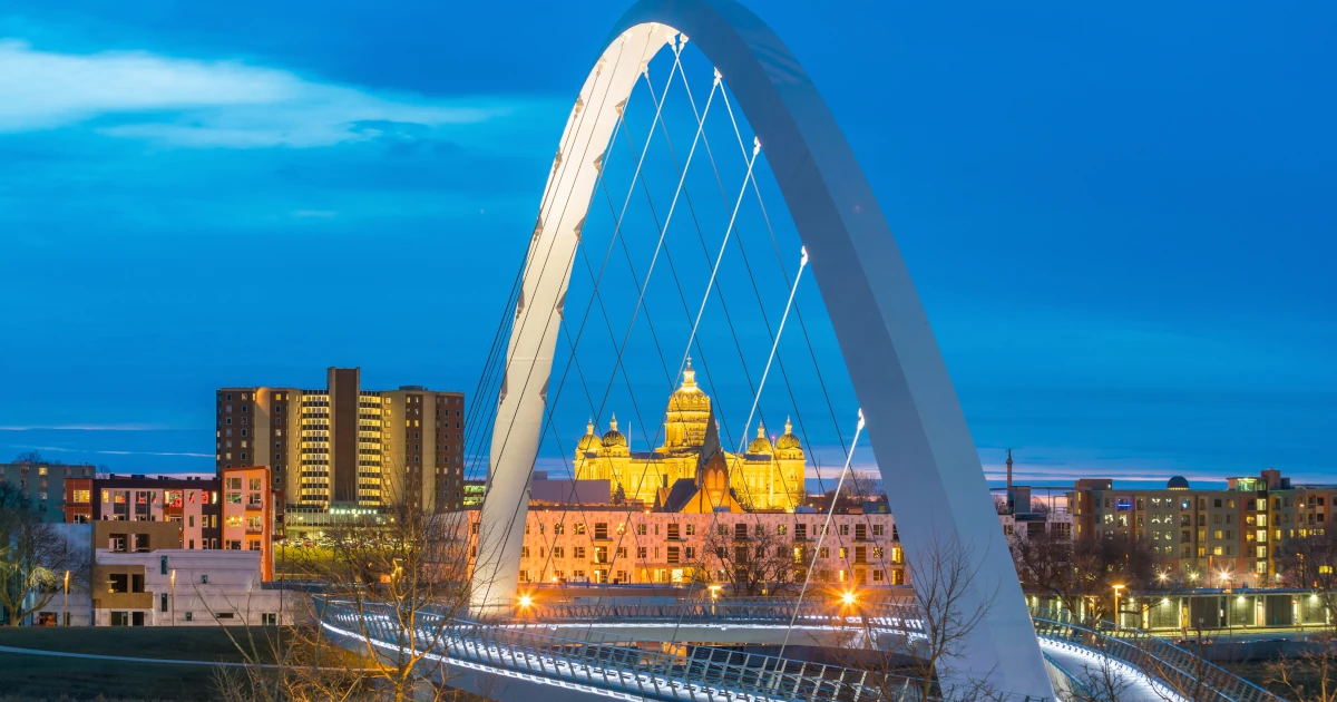
[[989,596],[993,604],[969,636],[968,655],[955,662],[959,674],[1052,698],[979,455],[877,198],[808,74],[734,0],[638,1],[580,88],[529,243],[507,348],[473,579],[476,612],[509,610],[516,596],[527,481],[560,305],[602,150],[642,64],[679,32],[723,75],[762,143],[826,302],[906,558],[913,563],[935,543],[960,539],[979,559],[979,587],[961,607],[975,611]]

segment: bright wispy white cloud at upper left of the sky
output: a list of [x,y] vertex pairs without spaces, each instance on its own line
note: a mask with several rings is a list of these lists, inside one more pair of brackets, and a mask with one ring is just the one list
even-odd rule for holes
[[525,104],[369,92],[239,62],[55,53],[0,40],[0,132],[91,123],[104,135],[178,147],[318,147],[374,139],[400,123],[467,128]]

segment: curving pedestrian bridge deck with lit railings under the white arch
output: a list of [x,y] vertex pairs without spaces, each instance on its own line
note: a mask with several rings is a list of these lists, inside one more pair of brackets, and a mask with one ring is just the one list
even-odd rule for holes
[[[416,636],[397,623],[390,604],[322,602],[321,620],[342,645],[357,650],[370,642],[388,657],[405,650],[410,639],[436,640],[422,653],[448,666],[456,675],[452,686],[497,699],[540,693],[560,699],[877,701],[884,690],[908,690],[915,681],[874,679],[874,671],[710,643],[737,645],[741,635],[749,638],[742,643],[781,643],[790,620],[805,628],[844,632],[844,640],[860,632],[921,635],[919,619],[904,603],[873,604],[845,615],[822,611],[820,604],[783,602],[550,604],[535,610],[487,623],[418,611]],[[1102,691],[1092,687],[1108,687],[1112,679],[1118,681],[1118,699],[1128,702],[1280,702],[1262,687],[1146,632],[1116,631],[1106,622],[1059,612],[1034,614],[1059,699],[1099,699]],[[437,631],[440,635],[428,635]],[[701,632],[715,635],[693,638]]]

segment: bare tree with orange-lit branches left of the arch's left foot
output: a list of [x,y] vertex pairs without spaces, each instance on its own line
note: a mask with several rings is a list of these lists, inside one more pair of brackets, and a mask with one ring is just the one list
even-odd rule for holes
[[[320,603],[265,639],[234,639],[254,661],[221,674],[241,699],[457,699],[445,663],[429,655],[459,632],[469,600],[467,512],[436,512],[410,471],[382,487],[377,513],[338,515],[313,547],[285,548],[289,579],[320,583]],[[298,600],[310,606],[312,600]],[[326,631],[320,607],[350,612]],[[277,667],[262,666],[265,659]],[[233,678],[238,679],[233,679]]]

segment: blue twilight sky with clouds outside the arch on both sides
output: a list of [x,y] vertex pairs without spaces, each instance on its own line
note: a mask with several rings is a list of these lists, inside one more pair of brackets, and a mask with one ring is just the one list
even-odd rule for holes
[[[860,155],[988,467],[1337,480],[1337,8],[750,5]],[[209,471],[214,388],[328,365],[472,390],[623,7],[0,5],[0,460]]]

